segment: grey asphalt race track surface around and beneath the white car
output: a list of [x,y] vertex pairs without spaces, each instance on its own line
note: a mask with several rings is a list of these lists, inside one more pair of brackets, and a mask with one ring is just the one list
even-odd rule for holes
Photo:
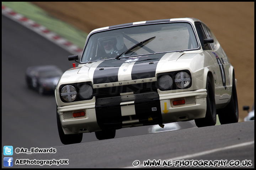
[[[28,89],[25,71],[29,66],[44,64],[55,64],[65,71],[72,67],[69,55],[73,54],[2,16],[2,153],[3,146],[28,150],[52,147],[56,153],[14,153],[12,157],[69,159],[69,165],[14,165],[13,168],[123,168],[132,167],[135,160],[142,164],[148,159],[168,161],[177,157],[251,160],[249,168],[254,168],[254,121],[155,134],[148,134],[148,127],[129,128],[117,130],[116,138],[103,141],[90,133],[84,134],[81,143],[64,146],[58,136],[54,96],[40,96]],[[228,146],[233,147],[223,148]],[[3,158],[2,154],[5,168]]]

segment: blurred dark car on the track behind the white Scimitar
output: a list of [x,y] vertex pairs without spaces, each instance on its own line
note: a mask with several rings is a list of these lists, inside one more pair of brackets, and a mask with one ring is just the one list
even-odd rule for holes
[[32,66],[26,70],[26,83],[39,94],[54,93],[63,71],[54,65]]

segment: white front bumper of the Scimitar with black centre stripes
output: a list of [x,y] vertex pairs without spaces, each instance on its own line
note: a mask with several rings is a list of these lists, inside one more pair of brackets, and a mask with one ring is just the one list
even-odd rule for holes
[[[135,126],[164,124],[204,118],[206,89],[161,94],[159,99],[143,102],[122,102],[118,105],[97,106],[95,102],[57,108],[65,134],[121,129]],[[185,103],[173,105],[173,101]],[[85,112],[73,117],[73,113]]]

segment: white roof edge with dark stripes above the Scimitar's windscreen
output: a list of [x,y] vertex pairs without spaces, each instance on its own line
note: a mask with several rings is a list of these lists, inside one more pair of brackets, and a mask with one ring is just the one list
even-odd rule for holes
[[[187,22],[201,22],[197,18],[172,18],[172,19],[158,19],[158,20],[151,20],[151,21],[141,21],[141,22],[132,22],[132,23],[126,23],[126,24],[119,24],[115,26],[109,26],[109,27],[102,27],[102,28],[97,28],[94,29],[90,32],[90,34],[94,32],[98,32],[101,30],[108,30],[108,29],[115,29],[115,28],[123,28],[123,27],[129,27],[129,26],[137,26],[137,25],[143,25],[143,24],[155,24],[155,23],[167,23],[167,22],[175,22],[175,21],[187,21]],[[89,34],[89,35],[90,35]]]

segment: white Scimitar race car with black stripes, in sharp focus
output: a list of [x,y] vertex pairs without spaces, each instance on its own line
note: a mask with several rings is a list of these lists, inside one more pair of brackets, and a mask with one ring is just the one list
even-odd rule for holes
[[78,67],[60,78],[55,98],[63,144],[81,142],[85,132],[103,140],[135,126],[187,120],[212,126],[217,114],[221,124],[238,122],[234,68],[196,18],[93,30]]

